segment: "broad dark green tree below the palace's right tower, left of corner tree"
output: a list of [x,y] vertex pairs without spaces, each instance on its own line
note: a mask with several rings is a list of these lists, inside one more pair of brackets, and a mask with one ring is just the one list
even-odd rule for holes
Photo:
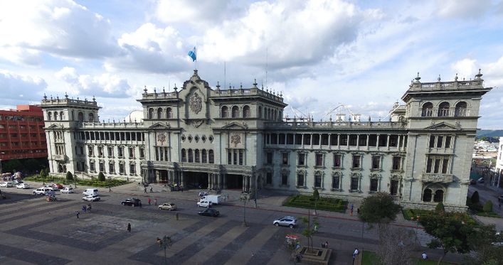
[[451,212],[435,212],[421,216],[420,224],[435,239],[428,243],[430,249],[443,249],[438,264],[448,252],[461,254],[470,252],[468,239],[474,233],[474,226],[466,222],[466,215]]

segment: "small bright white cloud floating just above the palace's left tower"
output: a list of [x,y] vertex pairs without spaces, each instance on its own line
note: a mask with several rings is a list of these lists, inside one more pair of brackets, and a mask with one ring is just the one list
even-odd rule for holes
[[78,75],[73,67],[63,67],[55,73],[55,77],[65,81],[75,94],[84,94],[100,97],[129,97],[136,94],[135,89],[127,80],[108,72],[102,75]]

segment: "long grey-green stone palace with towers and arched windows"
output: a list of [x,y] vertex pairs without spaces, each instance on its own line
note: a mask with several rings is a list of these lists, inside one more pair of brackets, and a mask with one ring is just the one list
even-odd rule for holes
[[390,121],[283,119],[282,94],[256,82],[212,88],[197,70],[174,92],[145,89],[139,120],[100,122],[95,98],[44,97],[41,107],[53,174],[351,199],[385,191],[404,207],[465,210],[480,100],[492,89],[483,81],[418,75]]

